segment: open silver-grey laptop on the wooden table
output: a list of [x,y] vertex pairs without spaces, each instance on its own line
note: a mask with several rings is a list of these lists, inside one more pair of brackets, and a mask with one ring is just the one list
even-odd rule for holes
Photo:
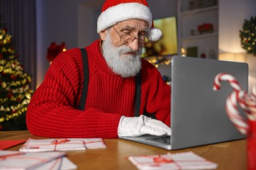
[[247,90],[247,63],[174,56],[171,64],[171,137],[142,135],[121,139],[167,150],[244,139],[224,110],[226,98],[233,92],[230,84],[222,82],[221,90],[213,91],[214,78],[219,73],[235,76]]

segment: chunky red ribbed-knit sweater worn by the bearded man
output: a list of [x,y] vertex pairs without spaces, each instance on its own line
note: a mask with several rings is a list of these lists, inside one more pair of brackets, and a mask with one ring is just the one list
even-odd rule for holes
[[[43,137],[116,138],[122,115],[133,116],[135,77],[116,75],[100,54],[98,42],[86,47],[89,84],[85,111],[76,110],[83,88],[83,61],[78,48],[54,59],[27,110],[30,133]],[[140,114],[145,109],[170,124],[171,88],[154,65],[142,59]]]

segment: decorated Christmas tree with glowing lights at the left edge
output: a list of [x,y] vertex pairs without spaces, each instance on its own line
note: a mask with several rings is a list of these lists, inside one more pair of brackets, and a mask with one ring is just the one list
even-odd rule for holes
[[26,110],[33,90],[24,73],[12,37],[0,25],[0,131],[26,130]]

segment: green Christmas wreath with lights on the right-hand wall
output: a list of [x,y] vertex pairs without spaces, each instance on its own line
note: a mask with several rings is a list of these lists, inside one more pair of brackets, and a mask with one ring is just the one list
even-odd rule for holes
[[244,20],[243,29],[240,30],[241,45],[247,54],[256,56],[256,16]]

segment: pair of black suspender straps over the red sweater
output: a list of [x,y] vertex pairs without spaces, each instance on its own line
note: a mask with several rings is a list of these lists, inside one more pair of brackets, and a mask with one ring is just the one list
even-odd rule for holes
[[[88,91],[89,83],[89,66],[87,52],[85,48],[81,48],[81,54],[83,58],[83,90],[81,93],[81,99],[78,105],[79,110],[85,110],[85,101]],[[140,73],[135,76],[135,116],[140,115],[140,97],[141,97],[141,75]]]

